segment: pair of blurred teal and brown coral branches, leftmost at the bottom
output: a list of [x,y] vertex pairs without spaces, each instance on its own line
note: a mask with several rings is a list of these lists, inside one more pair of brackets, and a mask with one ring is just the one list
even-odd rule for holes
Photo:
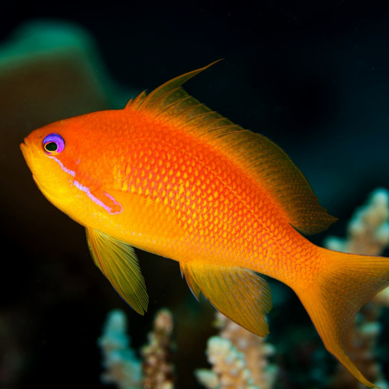
[[103,335],[98,345],[103,353],[101,375],[104,383],[116,384],[120,389],[173,389],[173,364],[171,335],[172,314],[167,309],[157,312],[153,331],[148,334],[148,344],[142,347],[143,360],[136,357],[126,334],[127,319],[117,309],[108,313]]

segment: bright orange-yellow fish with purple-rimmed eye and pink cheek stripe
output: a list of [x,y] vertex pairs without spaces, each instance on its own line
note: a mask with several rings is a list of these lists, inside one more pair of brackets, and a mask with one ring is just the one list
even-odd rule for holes
[[202,292],[259,336],[268,334],[272,306],[254,271],[262,273],[297,293],[326,349],[374,387],[348,355],[349,330],[388,286],[388,258],[319,248],[300,234],[336,218],[280,147],[181,88],[209,66],[124,109],[33,131],[20,148],[38,188],[85,226],[95,264],[140,314],[148,297],[132,247],[178,261],[197,299]]

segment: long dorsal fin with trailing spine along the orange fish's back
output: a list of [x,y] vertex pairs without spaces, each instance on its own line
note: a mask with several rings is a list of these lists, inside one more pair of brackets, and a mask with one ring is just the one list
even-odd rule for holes
[[336,218],[320,206],[304,175],[279,146],[232,123],[180,87],[211,65],[176,77],[147,96],[141,93],[126,109],[147,111],[233,159],[278,204],[296,229],[305,234],[326,230]]

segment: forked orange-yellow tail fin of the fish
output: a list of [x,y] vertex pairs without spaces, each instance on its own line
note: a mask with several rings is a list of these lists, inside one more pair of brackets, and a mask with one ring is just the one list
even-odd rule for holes
[[[325,348],[362,384],[378,388],[356,368],[349,335],[359,309],[389,286],[389,258],[334,252],[321,248],[322,274],[310,287],[293,286],[312,319]],[[317,284],[318,283],[318,284]]]

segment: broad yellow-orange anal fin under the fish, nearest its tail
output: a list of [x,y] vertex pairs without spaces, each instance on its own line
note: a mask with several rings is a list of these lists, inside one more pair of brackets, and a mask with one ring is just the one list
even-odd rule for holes
[[240,267],[180,263],[181,272],[198,300],[200,291],[212,305],[248,331],[269,333],[265,314],[272,307],[269,284],[250,270]]

